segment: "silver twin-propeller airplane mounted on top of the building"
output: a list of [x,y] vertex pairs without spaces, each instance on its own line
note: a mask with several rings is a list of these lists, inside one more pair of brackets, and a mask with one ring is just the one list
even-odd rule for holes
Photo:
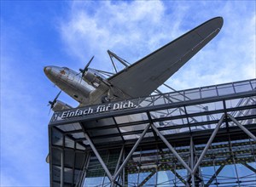
[[[80,72],[67,67],[49,65],[44,73],[57,87],[79,102],[79,107],[152,94],[189,59],[207,45],[223,26],[223,18],[207,20],[165,46],[139,59],[111,77],[89,68],[94,57]],[[71,108],[57,100],[49,101],[53,111]]]

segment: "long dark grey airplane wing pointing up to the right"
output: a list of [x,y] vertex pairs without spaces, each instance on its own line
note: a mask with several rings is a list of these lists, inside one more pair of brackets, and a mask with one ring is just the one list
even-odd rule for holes
[[215,37],[223,26],[216,17],[138,60],[108,81],[132,98],[148,96]]

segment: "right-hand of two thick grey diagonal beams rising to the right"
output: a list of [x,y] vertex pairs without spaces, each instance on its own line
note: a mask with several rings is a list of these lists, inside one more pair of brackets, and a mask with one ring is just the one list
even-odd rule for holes
[[195,171],[197,170],[197,168],[201,164],[201,161],[202,161],[203,157],[206,155],[207,150],[209,149],[210,145],[212,144],[212,140],[215,138],[216,134],[218,133],[219,127],[221,126],[221,124],[224,121],[224,117],[225,117],[225,115],[222,115],[220,120],[218,121],[218,125],[216,126],[216,128],[212,132],[212,135],[211,135],[210,139],[208,140],[205,149],[202,151],[201,156],[199,157],[198,161],[196,162],[195,167],[193,168],[192,174],[195,174]]

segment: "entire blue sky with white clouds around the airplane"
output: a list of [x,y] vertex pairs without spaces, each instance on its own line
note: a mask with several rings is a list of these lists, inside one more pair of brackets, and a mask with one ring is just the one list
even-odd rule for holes
[[[254,1],[1,1],[1,186],[49,186],[45,65],[112,71],[107,50],[133,63],[224,17],[218,36],[167,83],[176,89],[255,78]],[[60,99],[77,103],[66,94]]]

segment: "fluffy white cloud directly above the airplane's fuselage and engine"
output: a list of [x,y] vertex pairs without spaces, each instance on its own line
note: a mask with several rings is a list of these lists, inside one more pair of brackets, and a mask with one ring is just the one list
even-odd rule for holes
[[88,59],[90,54],[96,54],[100,67],[110,62],[108,49],[133,63],[160,47],[163,41],[168,42],[168,32],[173,34],[172,30],[177,29],[166,28],[165,8],[159,1],[101,2],[92,8],[93,14],[86,8],[78,8],[80,3],[74,4],[69,20],[61,23],[67,51],[81,62],[86,53]]

